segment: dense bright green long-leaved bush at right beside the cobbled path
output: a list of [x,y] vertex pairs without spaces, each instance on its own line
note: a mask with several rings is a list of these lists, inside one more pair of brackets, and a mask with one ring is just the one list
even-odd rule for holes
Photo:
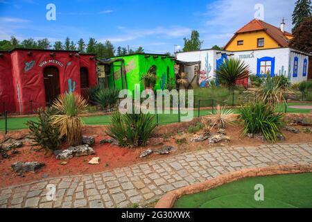
[[271,142],[277,141],[277,135],[282,135],[283,114],[261,101],[250,103],[240,110],[240,119],[244,123],[243,135],[261,133]]

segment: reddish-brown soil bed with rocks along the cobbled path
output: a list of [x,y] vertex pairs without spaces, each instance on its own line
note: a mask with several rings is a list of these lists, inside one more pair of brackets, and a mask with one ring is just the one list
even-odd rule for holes
[[[300,114],[288,114],[288,117],[301,117]],[[306,114],[304,115],[305,117]],[[309,117],[311,119],[311,117]],[[193,123],[196,122],[196,119]],[[227,136],[231,138],[230,142],[221,142],[219,144],[208,144],[207,140],[204,142],[190,142],[191,137],[195,134],[187,133],[187,128],[190,123],[173,123],[166,126],[159,126],[155,131],[157,135],[148,141],[148,146],[139,148],[121,148],[112,144],[99,144],[101,139],[107,138],[104,130],[105,126],[85,126],[83,135],[92,135],[95,137],[95,145],[92,146],[96,155],[73,157],[71,160],[65,160],[66,165],[61,165],[64,160],[56,160],[55,155],[52,153],[45,153],[42,151],[35,151],[31,147],[30,142],[26,142],[22,148],[18,148],[20,153],[12,155],[10,159],[0,160],[0,187],[8,185],[17,185],[24,182],[31,182],[33,180],[40,180],[42,178],[53,178],[57,176],[73,176],[84,173],[96,173],[115,169],[119,167],[130,166],[139,162],[148,162],[159,158],[165,158],[170,155],[178,155],[180,153],[187,153],[189,151],[196,151],[205,148],[214,148],[220,146],[257,146],[261,144],[269,144],[269,142],[261,139],[254,139],[241,136],[241,126],[227,126]],[[302,131],[303,126],[295,126]],[[171,130],[168,130],[171,129]],[[186,131],[183,131],[186,130]],[[215,133],[212,130],[211,133]],[[19,139],[27,135],[28,130],[11,131],[8,137]],[[197,134],[202,133],[198,131]],[[293,134],[288,131],[283,131],[286,141],[282,143],[302,143],[312,142],[311,134],[299,133]],[[4,134],[0,135],[0,141],[3,140]],[[148,157],[139,158],[142,151],[150,148],[155,150],[164,145],[173,146],[175,151],[169,155],[151,154]],[[63,144],[61,148],[67,148]],[[90,165],[89,160],[92,157],[100,157],[100,164]],[[46,167],[43,167],[36,173],[24,173],[24,177],[19,177],[15,172],[10,169],[11,164],[17,161],[36,161],[44,162]]]

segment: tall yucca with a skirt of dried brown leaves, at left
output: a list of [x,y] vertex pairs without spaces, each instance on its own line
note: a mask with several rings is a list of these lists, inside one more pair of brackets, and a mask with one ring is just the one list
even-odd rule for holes
[[54,126],[60,130],[60,137],[66,137],[70,146],[78,146],[83,139],[83,120],[78,114],[87,112],[87,101],[76,93],[60,94],[53,102],[53,108],[60,111],[52,117]]

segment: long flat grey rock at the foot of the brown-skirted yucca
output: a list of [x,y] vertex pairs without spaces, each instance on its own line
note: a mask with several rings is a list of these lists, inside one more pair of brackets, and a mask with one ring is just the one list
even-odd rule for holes
[[82,155],[92,155],[95,154],[94,149],[88,144],[81,146],[69,147],[64,151],[54,152],[57,160],[66,160],[72,157],[80,157]]

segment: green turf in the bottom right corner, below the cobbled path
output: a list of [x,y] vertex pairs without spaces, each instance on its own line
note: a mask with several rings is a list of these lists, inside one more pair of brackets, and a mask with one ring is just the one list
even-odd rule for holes
[[[264,200],[254,200],[255,185]],[[198,194],[182,196],[175,208],[306,208],[312,207],[312,173],[245,178]]]

